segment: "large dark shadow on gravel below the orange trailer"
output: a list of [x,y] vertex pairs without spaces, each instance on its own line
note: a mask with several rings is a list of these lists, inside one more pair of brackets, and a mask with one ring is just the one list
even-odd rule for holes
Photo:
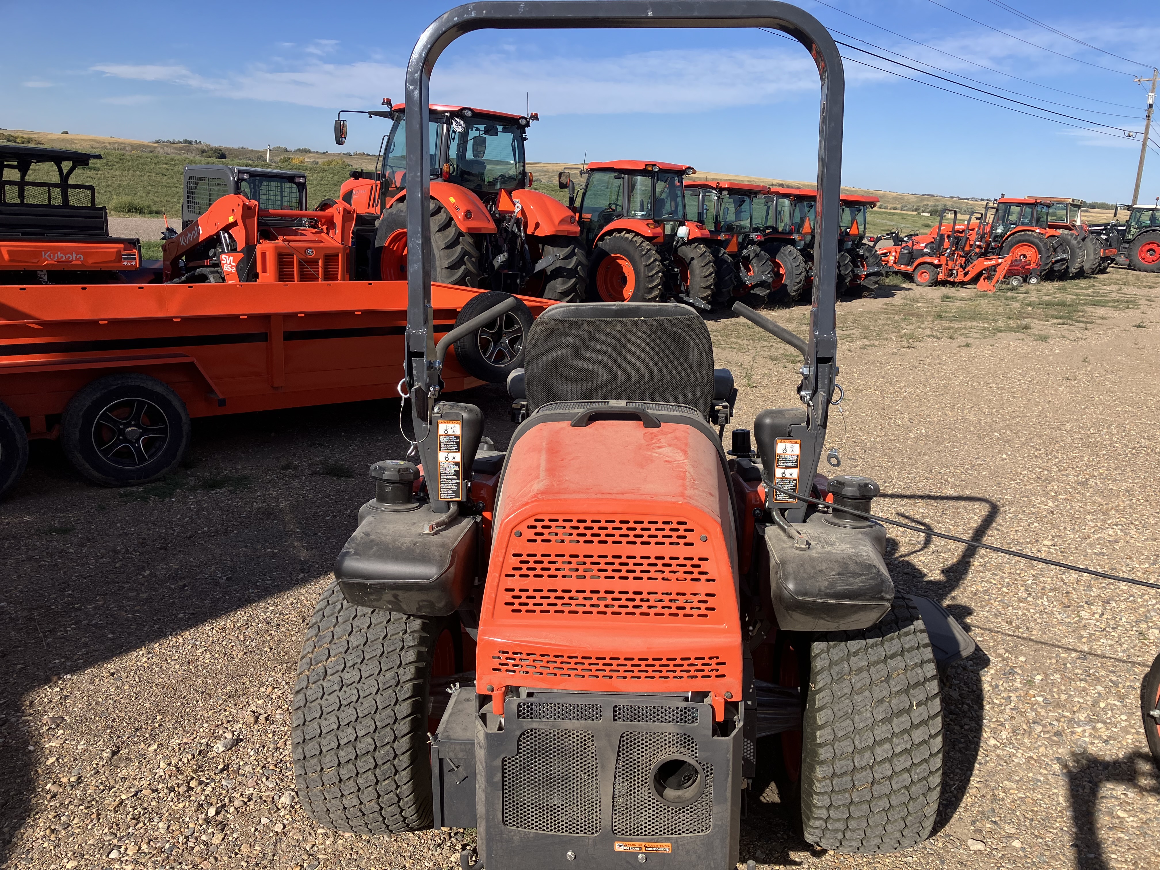
[[[456,398],[507,442],[501,389]],[[86,788],[84,771],[36,783],[35,754],[72,723],[27,715],[24,696],[329,572],[374,494],[365,467],[406,454],[398,415],[385,400],[195,420],[193,467],[129,491],[88,484],[56,444],[34,443],[0,503],[0,865],[15,865],[31,812]]]

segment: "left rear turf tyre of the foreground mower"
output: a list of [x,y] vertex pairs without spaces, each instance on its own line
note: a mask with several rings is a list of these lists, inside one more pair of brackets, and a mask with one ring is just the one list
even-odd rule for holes
[[432,826],[429,687],[447,626],[355,607],[332,583],[298,661],[290,742],[306,814],[355,834]]

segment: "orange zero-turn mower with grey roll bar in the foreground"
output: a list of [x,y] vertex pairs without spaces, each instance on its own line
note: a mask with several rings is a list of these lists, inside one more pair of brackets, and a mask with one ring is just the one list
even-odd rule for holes
[[[479,408],[440,396],[458,329],[435,343],[430,248],[413,246],[419,462],[372,466],[375,498],[307,629],[298,795],[341,831],[476,827],[490,870],[725,870],[763,752],[809,842],[906,848],[929,835],[942,782],[930,638],[957,626],[898,595],[883,528],[843,513],[869,507],[873,481],[814,473],[838,374],[844,82],[828,32],[762,0],[471,3],[411,56],[407,136],[426,135],[430,70],[455,37],[641,27],[777,28],[815,59],[811,338],[738,309],[803,355],[799,403],[757,414],[756,455],[747,432],[727,455],[713,427],[737,391],[693,307],[554,305],[508,380],[522,422],[496,451]],[[427,196],[426,151],[407,153],[411,198]],[[412,238],[425,217],[408,215]]]

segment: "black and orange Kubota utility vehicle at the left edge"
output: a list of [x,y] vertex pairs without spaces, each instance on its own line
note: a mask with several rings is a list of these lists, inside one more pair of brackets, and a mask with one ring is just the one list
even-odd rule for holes
[[[140,242],[111,238],[108,211],[96,204],[93,186],[72,183],[77,167],[100,159],[82,151],[0,145],[0,284],[152,280],[126,275],[143,266]],[[57,180],[29,181],[39,165],[53,166]]]

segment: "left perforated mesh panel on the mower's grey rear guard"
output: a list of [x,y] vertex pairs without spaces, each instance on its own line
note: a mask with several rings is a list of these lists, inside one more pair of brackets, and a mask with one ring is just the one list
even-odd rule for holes
[[590,731],[529,728],[516,754],[503,759],[502,773],[507,827],[600,833],[600,764]]

